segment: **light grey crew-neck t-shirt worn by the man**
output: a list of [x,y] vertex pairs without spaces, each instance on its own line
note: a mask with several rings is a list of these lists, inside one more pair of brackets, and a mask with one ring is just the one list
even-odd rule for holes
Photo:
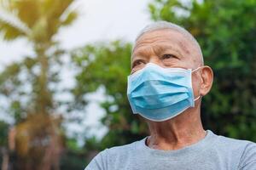
[[100,152],[85,170],[256,170],[256,144],[207,136],[180,150],[154,150],[146,138]]

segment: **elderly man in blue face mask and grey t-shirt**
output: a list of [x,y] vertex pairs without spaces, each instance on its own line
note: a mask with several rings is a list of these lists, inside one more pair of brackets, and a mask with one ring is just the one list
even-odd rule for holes
[[143,29],[131,56],[127,95],[150,136],[100,152],[85,170],[256,170],[256,144],[204,130],[201,97],[212,69],[182,27],[159,21]]

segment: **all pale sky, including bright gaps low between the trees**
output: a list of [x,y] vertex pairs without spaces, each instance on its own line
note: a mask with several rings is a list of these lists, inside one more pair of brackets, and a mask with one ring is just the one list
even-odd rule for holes
[[[77,0],[73,3],[73,8],[79,10],[79,19],[72,26],[62,28],[56,38],[61,42],[61,47],[66,49],[115,39],[133,42],[137,33],[150,23],[147,8],[149,2],[149,0]],[[0,39],[0,71],[4,66],[30,54],[33,54],[32,47],[26,40],[3,42]],[[64,84],[67,87],[73,86],[72,75],[69,71],[63,72]],[[98,121],[104,115],[104,111],[98,105],[104,99],[103,90],[99,89],[96,94],[90,94],[88,97],[91,102],[87,106],[88,114],[84,121],[79,124],[67,124],[67,128],[69,133],[79,133],[84,128],[90,128],[90,133],[102,136],[107,131]],[[1,117],[3,116],[0,115],[0,119]]]

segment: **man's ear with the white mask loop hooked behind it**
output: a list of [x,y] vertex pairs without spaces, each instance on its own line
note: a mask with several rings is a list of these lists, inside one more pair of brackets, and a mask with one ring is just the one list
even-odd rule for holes
[[213,82],[213,71],[211,67],[204,65],[201,69],[201,96],[205,96],[212,88]]

